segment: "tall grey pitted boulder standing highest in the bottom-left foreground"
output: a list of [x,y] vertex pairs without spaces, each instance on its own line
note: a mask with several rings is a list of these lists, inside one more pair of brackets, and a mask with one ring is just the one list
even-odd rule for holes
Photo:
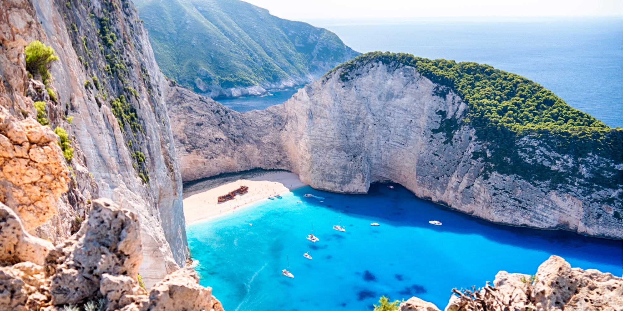
[[112,200],[97,199],[80,231],[46,258],[52,304],[75,304],[94,297],[103,274],[136,279],[142,259],[136,214]]

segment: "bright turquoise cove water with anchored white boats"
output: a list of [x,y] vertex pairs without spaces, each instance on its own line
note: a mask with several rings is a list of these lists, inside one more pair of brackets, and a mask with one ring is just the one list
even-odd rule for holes
[[[573,267],[622,274],[621,241],[493,225],[392,185],[376,183],[368,195],[304,187],[187,226],[201,284],[227,311],[371,310],[381,295],[417,295],[443,309],[450,289],[482,286],[500,270],[535,274],[553,254]],[[331,229],[340,210],[346,232]],[[312,221],[316,243],[305,239]],[[307,251],[313,260],[303,258]],[[294,279],[280,275],[287,255]]]

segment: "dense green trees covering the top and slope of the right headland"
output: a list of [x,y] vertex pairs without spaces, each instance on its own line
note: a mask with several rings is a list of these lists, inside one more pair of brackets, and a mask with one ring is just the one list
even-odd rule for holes
[[[347,83],[355,77],[351,75],[354,70],[377,62],[394,67],[414,67],[424,77],[441,85],[435,89],[436,95],[445,96],[452,90],[468,104],[467,115],[461,116],[464,119],[445,116],[445,112],[441,115],[438,111],[442,122],[436,131],[445,132],[447,141],[444,143],[451,143],[452,132],[460,124],[467,123],[476,129],[475,134],[480,141],[490,142],[487,147],[491,156],[487,156],[486,151],[473,154],[474,159],[486,162],[482,173],[485,179],[493,171],[554,184],[576,182],[576,177],[570,175],[585,178],[579,177],[579,165],[572,167],[576,170],[574,172],[535,171],[517,152],[520,147],[516,146],[516,142],[526,136],[539,139],[558,154],[569,154],[578,161],[599,155],[621,164],[623,134],[620,128],[609,128],[589,114],[572,108],[538,83],[489,65],[429,60],[406,53],[370,52],[341,64],[329,73],[343,68],[340,79]],[[531,152],[530,146],[524,149],[522,152]],[[587,182],[617,188],[622,178],[621,170],[606,167],[602,174],[588,177]]]

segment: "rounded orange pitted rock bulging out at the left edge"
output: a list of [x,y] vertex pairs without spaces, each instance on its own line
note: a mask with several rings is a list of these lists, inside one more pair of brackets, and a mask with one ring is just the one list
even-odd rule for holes
[[58,136],[34,119],[17,121],[0,107],[0,201],[19,211],[26,231],[57,215],[69,189]]

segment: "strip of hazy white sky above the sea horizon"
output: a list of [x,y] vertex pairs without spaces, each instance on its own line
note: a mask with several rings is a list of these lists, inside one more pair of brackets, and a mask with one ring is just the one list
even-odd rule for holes
[[621,0],[245,0],[285,19],[621,16]]

